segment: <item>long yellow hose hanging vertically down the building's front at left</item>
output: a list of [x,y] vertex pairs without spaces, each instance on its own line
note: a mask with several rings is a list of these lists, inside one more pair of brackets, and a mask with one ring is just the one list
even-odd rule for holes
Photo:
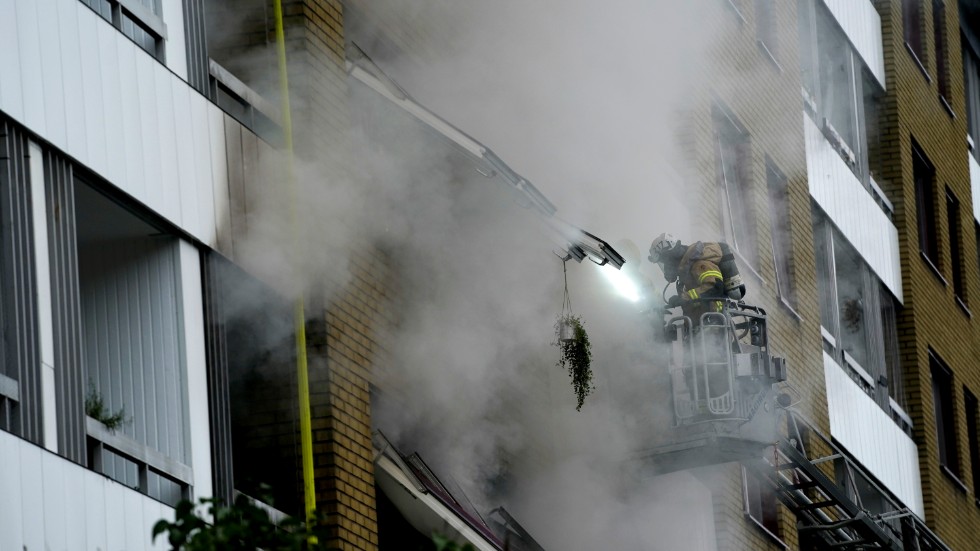
[[[286,34],[282,25],[282,2],[274,0],[276,17],[276,50],[279,57],[279,95],[282,97],[282,133],[286,142],[286,186],[290,239],[293,245],[293,269],[299,270],[299,239],[296,231],[296,176],[293,168],[293,121],[289,111],[289,79],[286,74]],[[296,278],[299,279],[298,277]],[[298,281],[295,281],[298,283]],[[296,385],[299,394],[299,432],[303,455],[303,495],[306,522],[316,514],[316,486],[313,480],[313,432],[310,419],[310,378],[306,361],[306,314],[302,290],[297,290],[293,305],[293,324],[296,332]],[[311,538],[315,543],[315,539]]]

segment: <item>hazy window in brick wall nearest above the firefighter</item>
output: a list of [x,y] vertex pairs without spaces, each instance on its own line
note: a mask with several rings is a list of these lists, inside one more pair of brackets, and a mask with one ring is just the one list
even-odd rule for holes
[[741,125],[714,108],[715,155],[725,238],[752,266],[758,266],[755,217],[750,207],[749,144]]

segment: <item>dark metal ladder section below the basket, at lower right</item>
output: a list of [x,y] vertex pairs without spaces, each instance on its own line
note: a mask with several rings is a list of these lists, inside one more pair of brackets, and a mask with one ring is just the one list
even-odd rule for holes
[[[796,515],[800,549],[950,551],[846,451],[798,413],[786,413],[789,436],[773,447],[768,460],[746,467]],[[805,431],[831,453],[811,457],[803,446]],[[827,462],[833,462],[832,476],[820,467]]]

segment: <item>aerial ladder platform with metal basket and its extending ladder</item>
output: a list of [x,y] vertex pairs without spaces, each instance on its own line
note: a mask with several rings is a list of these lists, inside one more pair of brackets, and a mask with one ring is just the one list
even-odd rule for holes
[[769,349],[766,312],[703,300],[717,311],[697,322],[665,313],[674,426],[637,459],[656,474],[741,463],[796,516],[802,550],[950,551],[793,407],[786,362]]

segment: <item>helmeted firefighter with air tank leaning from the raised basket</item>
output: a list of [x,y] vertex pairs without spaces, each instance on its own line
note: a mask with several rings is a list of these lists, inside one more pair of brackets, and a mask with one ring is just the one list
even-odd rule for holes
[[[703,301],[703,298],[724,298],[737,294],[741,298],[744,286],[735,293],[726,293],[726,281],[722,275],[723,261],[731,253],[724,243],[703,243],[684,245],[669,233],[660,234],[650,245],[650,262],[659,264],[668,283],[677,282],[677,294],[667,301],[669,308],[680,306],[684,315],[691,318],[697,326],[701,315],[707,312],[720,312],[721,301]],[[728,252],[728,254],[726,254]],[[736,275],[737,277],[737,275]],[[741,285],[739,279],[738,284]]]

